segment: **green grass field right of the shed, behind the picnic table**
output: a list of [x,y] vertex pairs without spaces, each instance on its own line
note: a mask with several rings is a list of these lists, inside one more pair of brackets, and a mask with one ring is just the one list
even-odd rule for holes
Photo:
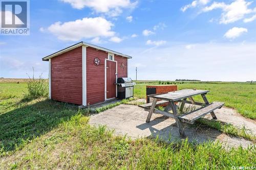
[[[134,89],[136,98],[145,98],[146,85],[156,84],[137,84]],[[225,102],[226,107],[236,109],[245,117],[256,119],[256,85],[255,84],[232,84],[232,83],[184,83],[177,84],[178,89],[205,89],[210,92],[207,94],[209,102]],[[196,101],[203,102],[201,96],[196,96]]]

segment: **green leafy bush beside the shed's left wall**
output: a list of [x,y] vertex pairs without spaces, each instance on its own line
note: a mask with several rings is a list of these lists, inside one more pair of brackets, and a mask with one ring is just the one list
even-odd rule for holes
[[42,79],[41,76],[39,76],[39,79],[35,79],[34,68],[33,68],[33,77],[30,78],[29,76],[29,82],[27,85],[28,92],[25,94],[25,99],[38,99],[38,98],[44,98],[48,96],[47,81]]

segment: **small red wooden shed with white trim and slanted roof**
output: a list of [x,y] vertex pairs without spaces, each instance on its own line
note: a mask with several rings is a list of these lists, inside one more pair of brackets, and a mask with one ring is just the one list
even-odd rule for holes
[[86,42],[44,57],[49,61],[49,98],[83,106],[116,98],[114,83],[128,77],[130,58]]

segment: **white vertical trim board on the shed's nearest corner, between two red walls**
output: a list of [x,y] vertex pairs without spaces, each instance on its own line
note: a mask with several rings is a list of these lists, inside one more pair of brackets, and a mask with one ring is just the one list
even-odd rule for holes
[[86,45],[82,45],[82,105],[87,105]]

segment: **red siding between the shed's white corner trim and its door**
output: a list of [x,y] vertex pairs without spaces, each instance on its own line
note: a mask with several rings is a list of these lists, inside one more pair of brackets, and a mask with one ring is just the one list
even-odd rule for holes
[[[105,59],[108,53],[87,47],[87,104],[90,105],[105,101]],[[94,58],[99,58],[100,65],[95,66]]]

